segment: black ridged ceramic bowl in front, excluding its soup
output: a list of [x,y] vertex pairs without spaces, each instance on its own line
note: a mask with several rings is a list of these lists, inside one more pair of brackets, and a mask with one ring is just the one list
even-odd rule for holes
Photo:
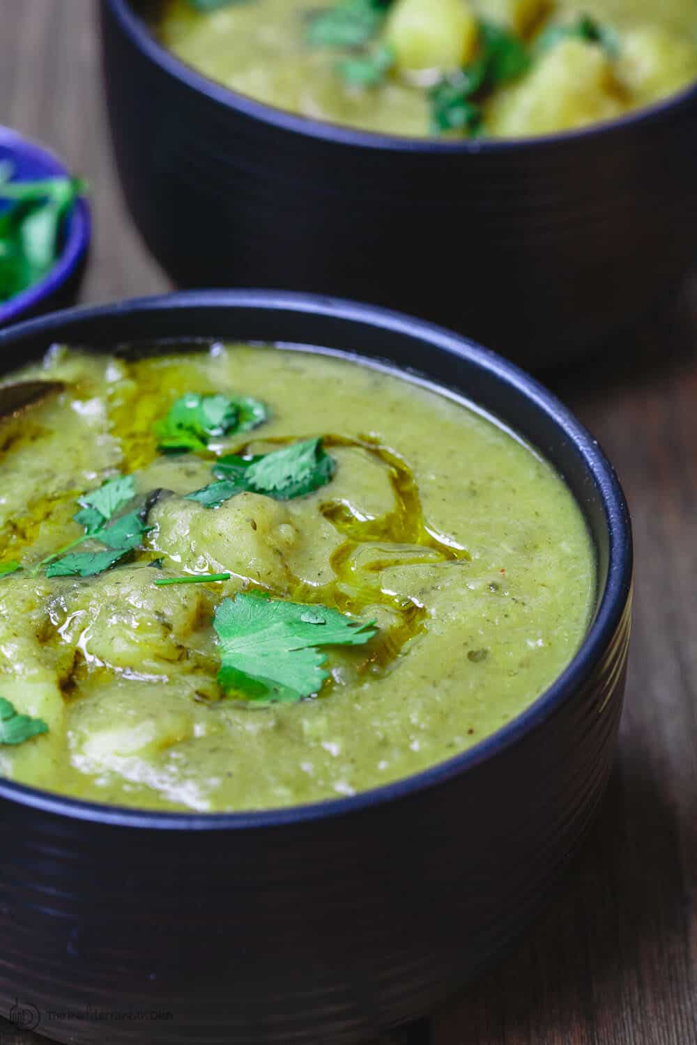
[[532,378],[372,307],[194,293],[55,314],[0,333],[0,352],[8,369],[56,341],[202,335],[327,346],[463,393],[563,473],[597,548],[594,622],[563,675],[494,736],[408,780],[213,815],[0,782],[1,1013],[74,1043],[348,1045],[425,1013],[491,961],[581,844],[622,709],[627,506],[597,443]]

